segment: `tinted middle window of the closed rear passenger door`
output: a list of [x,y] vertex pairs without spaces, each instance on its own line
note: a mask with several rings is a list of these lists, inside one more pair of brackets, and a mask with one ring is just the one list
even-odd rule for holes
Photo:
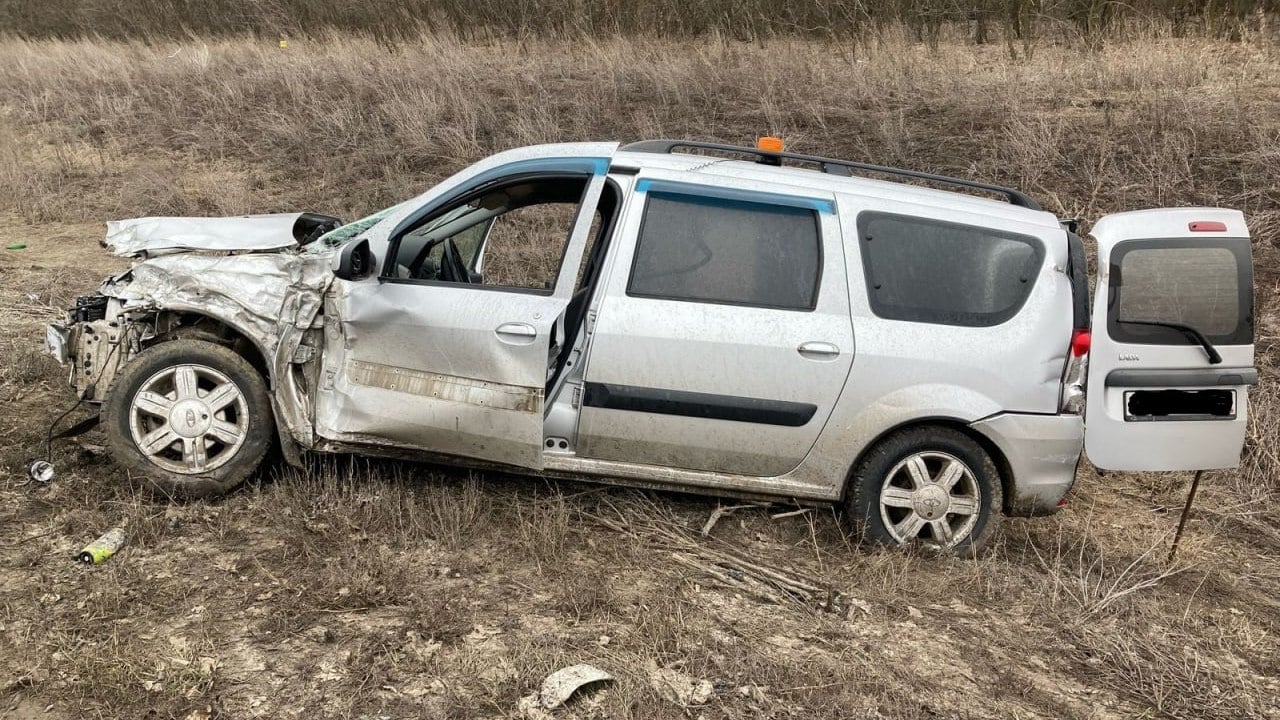
[[814,210],[652,192],[627,293],[812,310],[820,274]]

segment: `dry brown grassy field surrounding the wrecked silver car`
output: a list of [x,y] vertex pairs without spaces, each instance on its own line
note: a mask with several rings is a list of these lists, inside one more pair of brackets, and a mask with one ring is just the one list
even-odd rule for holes
[[[0,40],[0,247],[27,245],[0,250],[0,719],[516,717],[575,662],[616,682],[556,717],[1280,717],[1276,77],[1262,36]],[[355,218],[508,146],[767,132],[1064,217],[1245,210],[1265,383],[1175,562],[1180,475],[1084,470],[975,560],[859,548],[831,511],[704,537],[730,502],[351,459],[169,503],[96,434],[24,482],[73,401],[41,325],[120,266],[102,220]],[[120,523],[123,553],[73,562]]]

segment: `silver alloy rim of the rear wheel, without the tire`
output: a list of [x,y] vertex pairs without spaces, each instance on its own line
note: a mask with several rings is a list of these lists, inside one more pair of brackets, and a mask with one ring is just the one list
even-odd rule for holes
[[884,529],[895,541],[952,547],[978,524],[982,488],[959,457],[916,452],[884,477],[879,507]]

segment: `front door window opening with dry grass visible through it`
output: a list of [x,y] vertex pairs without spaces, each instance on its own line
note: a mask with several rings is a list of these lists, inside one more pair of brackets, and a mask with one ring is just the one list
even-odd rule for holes
[[552,290],[589,179],[506,182],[433,213],[399,236],[393,277]]

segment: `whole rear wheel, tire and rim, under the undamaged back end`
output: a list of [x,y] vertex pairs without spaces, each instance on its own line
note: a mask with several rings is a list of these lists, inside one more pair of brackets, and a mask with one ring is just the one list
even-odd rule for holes
[[891,434],[863,456],[850,483],[846,514],[877,544],[972,555],[1000,524],[1000,471],[982,446],[951,428]]

